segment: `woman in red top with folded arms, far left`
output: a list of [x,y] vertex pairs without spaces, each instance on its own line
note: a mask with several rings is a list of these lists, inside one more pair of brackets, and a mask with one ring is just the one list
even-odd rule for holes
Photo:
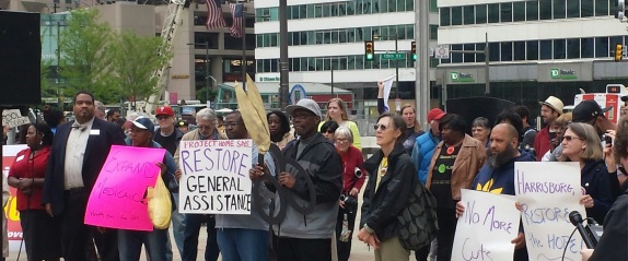
[[18,189],[18,211],[26,256],[28,261],[59,260],[62,249],[60,223],[42,205],[53,131],[44,122],[33,123],[26,132],[26,144],[28,147],[18,153],[9,170],[9,186]]

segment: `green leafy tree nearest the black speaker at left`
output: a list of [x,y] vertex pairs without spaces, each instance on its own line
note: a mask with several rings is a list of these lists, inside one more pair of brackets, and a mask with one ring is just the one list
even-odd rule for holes
[[98,23],[97,17],[94,9],[71,11],[67,27],[60,33],[59,73],[66,79],[66,94],[88,90],[97,99],[109,103],[115,100],[107,83],[113,34],[108,24]]

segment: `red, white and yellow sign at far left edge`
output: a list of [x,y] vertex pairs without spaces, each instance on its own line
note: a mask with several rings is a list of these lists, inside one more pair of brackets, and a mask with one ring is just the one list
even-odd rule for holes
[[[26,145],[3,145],[2,146],[2,175],[9,177],[11,165],[15,161],[15,155],[26,149]],[[4,215],[7,216],[7,238],[9,239],[9,249],[16,251],[20,249],[20,241],[22,241],[22,225],[20,224],[20,212],[18,211],[18,199],[15,188],[9,188],[11,195],[4,206]]]

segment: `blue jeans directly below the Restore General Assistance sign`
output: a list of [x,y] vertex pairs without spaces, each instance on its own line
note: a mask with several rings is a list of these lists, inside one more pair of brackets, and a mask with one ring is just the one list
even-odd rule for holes
[[241,228],[218,228],[218,246],[222,261],[267,261],[268,232]]

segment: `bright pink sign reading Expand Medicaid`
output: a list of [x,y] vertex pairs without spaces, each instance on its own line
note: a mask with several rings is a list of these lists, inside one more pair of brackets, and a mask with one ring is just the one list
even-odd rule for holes
[[90,194],[85,224],[129,230],[151,232],[148,187],[156,182],[165,150],[112,146]]

